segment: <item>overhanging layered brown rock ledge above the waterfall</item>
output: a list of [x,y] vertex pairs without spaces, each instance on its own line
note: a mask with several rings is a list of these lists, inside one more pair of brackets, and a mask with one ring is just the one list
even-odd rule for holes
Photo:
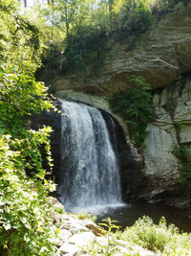
[[128,48],[127,42],[117,43],[108,53],[98,78],[93,79],[88,71],[80,76],[65,76],[54,81],[54,90],[107,95],[127,88],[132,75],[142,76],[153,88],[180,79],[191,70],[191,4],[161,17],[133,51]]

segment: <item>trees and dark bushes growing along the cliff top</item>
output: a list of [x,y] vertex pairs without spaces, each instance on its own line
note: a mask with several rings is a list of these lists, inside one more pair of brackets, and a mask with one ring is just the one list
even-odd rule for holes
[[[188,0],[53,0],[33,8],[43,27],[43,62],[60,73],[96,76],[108,50],[124,40],[131,50],[154,19]],[[37,15],[36,15],[37,13]]]

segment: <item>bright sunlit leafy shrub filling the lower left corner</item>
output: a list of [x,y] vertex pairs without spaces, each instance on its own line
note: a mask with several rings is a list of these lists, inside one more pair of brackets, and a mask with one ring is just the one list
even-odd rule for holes
[[[44,142],[45,133],[39,135]],[[11,150],[12,144],[20,146],[23,141],[0,136],[0,249],[3,255],[53,255],[55,234],[47,198],[53,185],[45,180],[44,186],[37,178],[44,178],[42,170],[36,178],[27,176],[23,154]]]

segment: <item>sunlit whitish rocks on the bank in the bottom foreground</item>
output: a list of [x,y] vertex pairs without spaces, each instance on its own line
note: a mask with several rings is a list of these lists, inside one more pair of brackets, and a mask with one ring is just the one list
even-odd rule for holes
[[[52,205],[63,208],[57,199],[51,198]],[[80,216],[64,213],[53,213],[53,220],[58,227],[57,239],[53,241],[58,248],[57,256],[77,255],[105,255],[108,246],[113,251],[112,255],[156,255],[138,244],[117,239],[114,234],[109,234],[92,220],[79,220]]]

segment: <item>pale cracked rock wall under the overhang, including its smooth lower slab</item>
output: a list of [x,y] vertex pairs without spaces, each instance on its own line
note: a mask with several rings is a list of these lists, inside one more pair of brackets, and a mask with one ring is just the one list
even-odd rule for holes
[[175,145],[191,143],[191,80],[177,81],[154,94],[155,124],[145,139],[145,173],[156,185],[173,185],[180,176]]

